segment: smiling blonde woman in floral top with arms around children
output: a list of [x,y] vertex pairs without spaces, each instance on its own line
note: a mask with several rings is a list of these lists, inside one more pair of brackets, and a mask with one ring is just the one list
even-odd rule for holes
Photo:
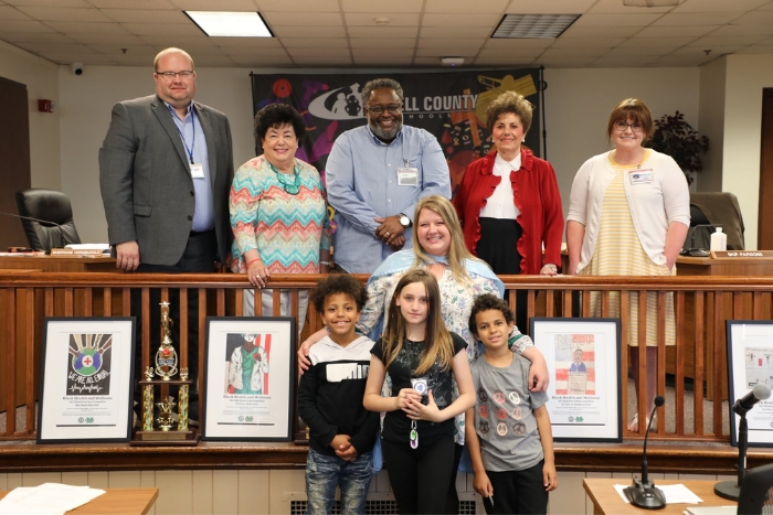
[[[368,303],[362,310],[357,329],[362,334],[370,333],[371,339],[373,336],[378,339],[382,332],[381,325],[386,305],[400,278],[411,268],[426,268],[435,276],[441,289],[443,321],[448,331],[465,339],[467,356],[472,362],[483,352],[483,345],[473,339],[467,326],[473,301],[481,293],[494,293],[501,298],[505,286],[488,265],[467,250],[459,218],[451,201],[440,195],[422,199],[416,204],[414,219],[416,223],[413,230],[413,248],[389,256],[368,280]],[[326,331],[321,330],[304,342],[298,351],[299,367],[303,369],[308,367],[306,357],[308,347],[325,334],[327,334]],[[531,339],[520,334],[516,328],[510,335],[510,342],[515,342],[513,352],[532,363],[529,371],[529,384],[534,385],[532,390],[546,390],[548,367],[544,357],[534,347]],[[390,390],[391,382],[388,377],[382,395],[390,395]],[[458,446],[456,446],[455,466],[458,466],[464,446],[464,414],[456,417],[456,425],[454,439]],[[454,502],[452,497],[456,498],[455,481],[456,478],[449,485],[449,502]]]

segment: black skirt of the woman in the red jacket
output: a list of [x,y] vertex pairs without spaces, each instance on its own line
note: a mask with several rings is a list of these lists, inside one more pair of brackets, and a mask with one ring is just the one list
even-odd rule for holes
[[480,239],[475,250],[494,273],[520,273],[521,255],[517,244],[523,229],[515,219],[480,217]]

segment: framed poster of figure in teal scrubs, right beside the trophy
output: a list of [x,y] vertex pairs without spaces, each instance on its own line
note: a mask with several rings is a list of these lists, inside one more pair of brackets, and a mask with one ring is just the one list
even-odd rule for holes
[[295,324],[292,316],[207,318],[202,440],[292,440]]

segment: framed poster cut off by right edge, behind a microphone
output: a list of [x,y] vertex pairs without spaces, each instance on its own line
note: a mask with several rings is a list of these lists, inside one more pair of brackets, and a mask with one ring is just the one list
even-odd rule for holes
[[[728,404],[730,443],[738,447],[741,417],[733,404],[758,383],[773,387],[773,322],[770,320],[728,320]],[[760,400],[746,414],[750,447],[773,446],[773,398]]]

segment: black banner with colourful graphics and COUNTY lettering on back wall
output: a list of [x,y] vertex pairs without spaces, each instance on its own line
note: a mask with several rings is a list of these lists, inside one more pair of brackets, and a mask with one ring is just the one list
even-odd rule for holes
[[[306,121],[306,140],[296,157],[325,165],[336,138],[366,124],[360,89],[373,78],[398,81],[405,95],[403,124],[421,127],[437,138],[448,161],[452,187],[468,163],[491,148],[486,108],[506,90],[516,90],[534,106],[526,146],[540,154],[539,68],[420,74],[252,74],[253,112],[271,103],[294,106]],[[256,153],[262,153],[256,142]]]

